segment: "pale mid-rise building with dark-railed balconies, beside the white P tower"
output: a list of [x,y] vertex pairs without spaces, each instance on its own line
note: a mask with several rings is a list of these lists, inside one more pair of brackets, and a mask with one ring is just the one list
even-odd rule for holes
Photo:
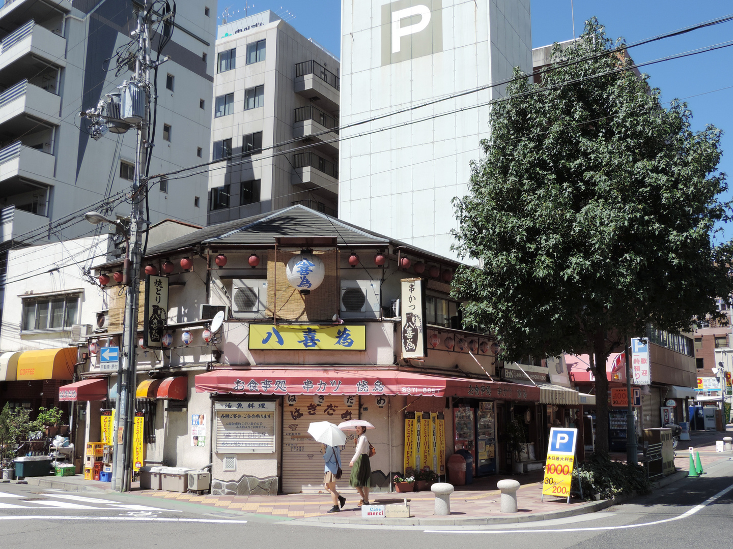
[[218,28],[207,224],[336,213],[339,60],[271,11]]

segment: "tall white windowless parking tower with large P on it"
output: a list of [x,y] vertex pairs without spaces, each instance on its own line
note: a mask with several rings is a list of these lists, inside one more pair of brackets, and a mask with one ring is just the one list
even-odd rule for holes
[[532,70],[529,4],[342,2],[340,218],[454,256],[451,201],[504,91],[485,86]]

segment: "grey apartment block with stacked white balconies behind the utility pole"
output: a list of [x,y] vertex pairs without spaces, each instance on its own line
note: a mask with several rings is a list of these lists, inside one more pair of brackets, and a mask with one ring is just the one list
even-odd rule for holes
[[[129,187],[136,132],[108,132],[93,141],[78,113],[130,78],[128,67],[116,74],[116,53],[135,27],[132,0],[6,0],[0,7],[1,242],[51,230],[72,212]],[[151,174],[194,165],[196,152],[209,149],[215,32],[216,0],[177,3],[164,52],[171,60],[158,71]],[[154,48],[158,39],[154,34]],[[156,186],[150,221],[176,217],[203,225],[206,189],[205,174]],[[129,204],[114,214],[129,215]],[[56,236],[90,230],[75,223]]]

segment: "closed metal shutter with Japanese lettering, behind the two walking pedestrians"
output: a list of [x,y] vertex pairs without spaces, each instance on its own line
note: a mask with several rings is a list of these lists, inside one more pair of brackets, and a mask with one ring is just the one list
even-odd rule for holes
[[[353,404],[347,404],[350,399]],[[317,403],[317,400],[323,400]],[[339,425],[342,414],[351,412],[351,419],[358,419],[358,397],[325,395],[288,395],[283,399],[282,417],[282,492],[323,493],[323,457],[321,444],[308,434],[312,422],[331,422]],[[331,413],[333,415],[328,415]],[[301,415],[302,414],[302,415]],[[345,447],[341,447],[341,480],[336,483],[339,492],[356,493],[349,488],[351,468],[349,462],[354,455],[354,431],[346,432]],[[368,436],[368,435],[367,435]]]

